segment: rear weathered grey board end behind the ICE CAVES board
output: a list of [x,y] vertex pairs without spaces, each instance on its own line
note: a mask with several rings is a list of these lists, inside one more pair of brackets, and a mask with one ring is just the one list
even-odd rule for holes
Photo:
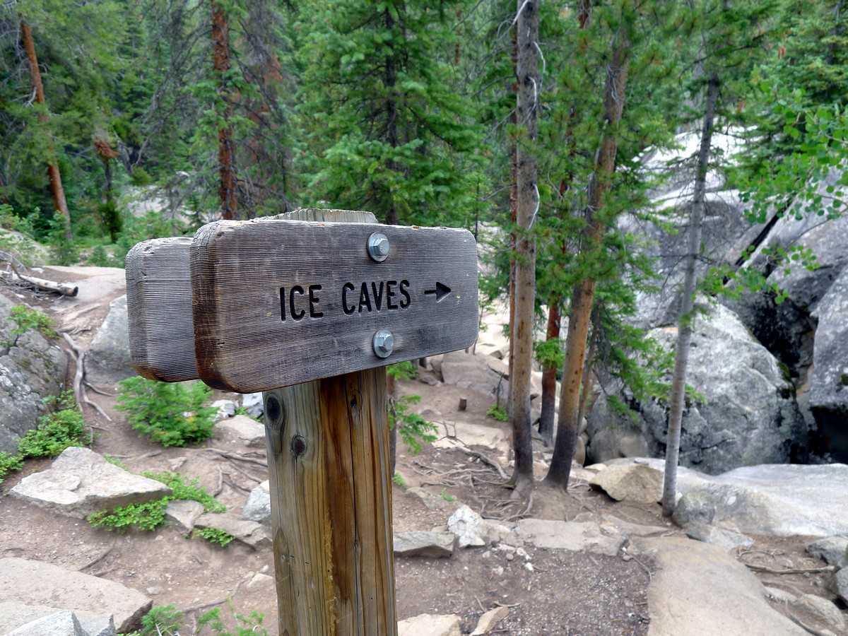
[[188,237],[138,243],[126,254],[130,361],[138,375],[162,382],[198,378]]

